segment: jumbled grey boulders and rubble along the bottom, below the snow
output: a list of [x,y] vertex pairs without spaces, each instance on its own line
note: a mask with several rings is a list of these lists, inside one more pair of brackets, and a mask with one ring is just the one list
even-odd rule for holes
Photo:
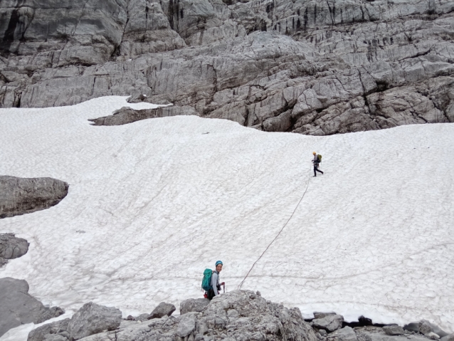
[[428,321],[374,326],[360,318],[350,327],[336,313],[314,313],[305,321],[297,308],[285,308],[250,290],[235,290],[210,302],[186,300],[180,314],[175,307],[160,303],[150,314],[122,320],[122,313],[87,303],[73,318],[52,322],[32,330],[28,341],[208,341],[208,340],[292,340],[292,341],[453,341]]

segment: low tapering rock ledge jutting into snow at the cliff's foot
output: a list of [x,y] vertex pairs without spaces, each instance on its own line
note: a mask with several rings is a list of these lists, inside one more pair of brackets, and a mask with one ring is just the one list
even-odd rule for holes
[[122,107],[106,117],[98,117],[90,121],[93,125],[126,125],[127,123],[146,120],[147,118],[167,117],[176,115],[198,115],[193,107],[158,107],[157,109],[134,110]]

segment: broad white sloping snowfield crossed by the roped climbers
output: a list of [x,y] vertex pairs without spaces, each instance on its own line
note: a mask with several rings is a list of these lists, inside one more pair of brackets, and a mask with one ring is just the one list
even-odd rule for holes
[[178,308],[202,297],[218,259],[236,289],[309,182],[242,288],[307,316],[454,332],[454,125],[310,137],[192,116],[88,122],[125,105],[152,107],[108,97],[0,110],[0,174],[70,184],[57,206],[0,219],[0,233],[31,243],[0,277],[68,311],[90,300],[124,317]]

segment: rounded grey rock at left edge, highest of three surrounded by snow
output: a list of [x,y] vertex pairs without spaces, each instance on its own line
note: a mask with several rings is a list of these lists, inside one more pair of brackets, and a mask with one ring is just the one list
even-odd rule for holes
[[68,194],[68,187],[49,177],[0,176],[0,219],[55,206]]

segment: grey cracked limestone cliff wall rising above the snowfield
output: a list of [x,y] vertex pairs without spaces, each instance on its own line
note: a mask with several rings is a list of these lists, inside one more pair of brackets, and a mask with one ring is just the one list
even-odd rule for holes
[[1,1],[0,107],[146,95],[174,107],[144,118],[307,135],[454,122],[453,11],[450,0]]

